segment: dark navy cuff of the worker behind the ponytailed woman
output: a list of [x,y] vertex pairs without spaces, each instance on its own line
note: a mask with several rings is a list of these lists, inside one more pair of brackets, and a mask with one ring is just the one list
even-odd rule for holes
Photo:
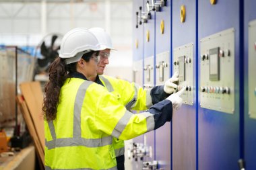
[[163,99],[166,99],[170,94],[165,93],[164,91],[164,85],[159,85],[151,89],[150,95],[152,98],[152,103],[158,103],[159,101],[162,101]]

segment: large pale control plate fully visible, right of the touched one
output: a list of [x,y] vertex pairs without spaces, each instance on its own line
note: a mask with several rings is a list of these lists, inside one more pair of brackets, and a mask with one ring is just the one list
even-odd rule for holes
[[234,113],[234,28],[200,40],[200,106]]

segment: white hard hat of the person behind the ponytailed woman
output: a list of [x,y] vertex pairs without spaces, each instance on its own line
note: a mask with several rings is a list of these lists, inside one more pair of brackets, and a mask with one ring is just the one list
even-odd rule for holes
[[109,34],[103,28],[94,27],[89,30],[98,38],[100,44],[105,46],[105,49],[115,50]]

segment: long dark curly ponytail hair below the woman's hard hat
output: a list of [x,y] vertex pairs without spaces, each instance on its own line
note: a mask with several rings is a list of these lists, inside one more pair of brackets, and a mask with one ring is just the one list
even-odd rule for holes
[[[93,54],[98,55],[99,52],[91,51],[82,56],[86,62],[89,62]],[[49,67],[49,82],[44,87],[44,102],[42,111],[47,121],[55,120],[57,107],[59,103],[59,93],[65,80],[70,77],[71,73],[76,72],[77,62],[65,65],[63,58],[57,57]]]

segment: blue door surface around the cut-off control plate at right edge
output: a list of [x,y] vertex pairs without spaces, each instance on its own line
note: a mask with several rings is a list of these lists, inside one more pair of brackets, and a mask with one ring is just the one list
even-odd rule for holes
[[[256,1],[245,1],[245,163],[246,169],[256,169],[256,120],[249,118],[248,109],[248,24],[256,19]],[[256,64],[256,63],[255,63]],[[256,77],[256,73],[255,73]],[[255,79],[254,77],[254,79]],[[255,103],[256,104],[256,103]]]

